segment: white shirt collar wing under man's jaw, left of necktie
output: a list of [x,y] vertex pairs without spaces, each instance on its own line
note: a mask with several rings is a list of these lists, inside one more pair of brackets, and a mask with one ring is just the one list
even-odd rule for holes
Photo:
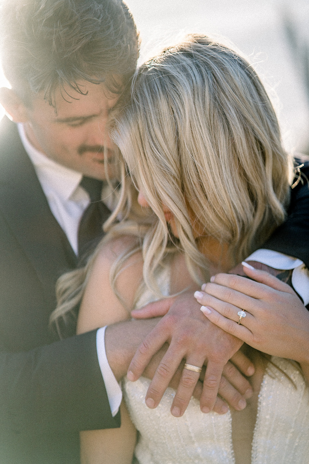
[[38,151],[27,139],[24,124],[18,123],[17,126],[21,142],[44,190],[47,188],[63,199],[69,200],[82,180],[82,173],[66,168]]

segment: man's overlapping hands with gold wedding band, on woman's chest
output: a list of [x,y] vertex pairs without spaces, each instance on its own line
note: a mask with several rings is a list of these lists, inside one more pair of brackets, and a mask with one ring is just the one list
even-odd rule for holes
[[[201,410],[209,412],[214,408],[219,386],[221,395],[236,409],[243,409],[244,398],[239,399],[235,394],[234,387],[239,384],[239,367],[245,375],[252,375],[254,367],[252,363],[241,353],[234,356],[235,366],[227,361],[239,350],[242,342],[223,330],[217,328],[202,315],[200,305],[195,302],[191,292],[183,293],[176,298],[170,299],[168,313],[158,322],[158,325],[146,336],[144,342],[139,346],[128,369],[128,378],[137,380],[143,373],[145,367],[151,361],[152,356],[164,345],[170,344],[166,354],[160,361],[153,376],[153,380],[146,394],[146,404],[154,408],[158,406],[163,393],[169,385],[177,368],[185,359],[185,362],[194,366],[202,367],[207,364],[201,395]],[[165,306],[164,306],[165,304]],[[168,303],[163,303],[168,309]],[[134,311],[134,317],[158,316],[153,310]],[[162,315],[162,312],[160,313]],[[227,365],[227,366],[226,366]],[[228,374],[221,380],[221,374],[225,369]],[[182,416],[199,379],[199,374],[183,369],[177,392],[171,406],[174,416]],[[242,378],[243,379],[243,378]],[[227,382],[227,383],[226,383]],[[250,395],[250,385],[246,379],[241,380],[240,393]],[[232,384],[232,385],[231,385]],[[233,401],[236,398],[235,401]],[[220,403],[220,401],[219,401]],[[221,405],[223,406],[223,405]]]

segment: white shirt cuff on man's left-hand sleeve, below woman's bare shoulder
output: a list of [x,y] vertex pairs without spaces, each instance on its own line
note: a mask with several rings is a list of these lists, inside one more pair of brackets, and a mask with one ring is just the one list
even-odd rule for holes
[[112,416],[114,417],[119,411],[119,406],[122,400],[122,392],[120,385],[107,361],[105,351],[105,329],[106,327],[102,327],[96,332],[96,351],[98,354],[98,361],[105,384],[109,406],[111,408]]

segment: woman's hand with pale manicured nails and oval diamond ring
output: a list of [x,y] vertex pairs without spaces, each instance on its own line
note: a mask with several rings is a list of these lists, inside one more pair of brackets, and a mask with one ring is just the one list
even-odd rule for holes
[[[195,298],[209,321],[264,353],[309,362],[309,311],[289,285],[265,271],[217,274]],[[246,312],[246,317],[238,312]]]

